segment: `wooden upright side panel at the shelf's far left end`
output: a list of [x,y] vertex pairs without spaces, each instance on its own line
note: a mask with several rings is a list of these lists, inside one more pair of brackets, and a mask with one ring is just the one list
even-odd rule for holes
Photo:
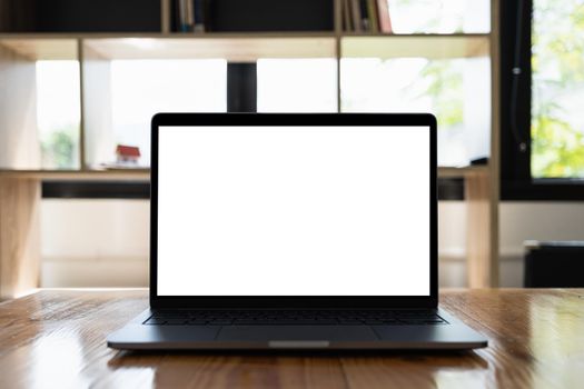
[[[39,169],[36,66],[0,41],[0,169]],[[40,181],[0,177],[0,299],[38,286]]]

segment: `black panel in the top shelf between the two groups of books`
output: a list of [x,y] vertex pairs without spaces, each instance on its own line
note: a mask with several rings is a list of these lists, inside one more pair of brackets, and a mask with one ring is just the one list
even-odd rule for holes
[[333,31],[333,0],[210,0],[205,26],[215,32]]

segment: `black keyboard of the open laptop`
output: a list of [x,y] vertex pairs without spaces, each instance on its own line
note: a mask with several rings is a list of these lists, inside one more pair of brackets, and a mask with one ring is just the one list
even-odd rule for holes
[[434,326],[448,322],[427,310],[174,310],[148,318],[150,326]]

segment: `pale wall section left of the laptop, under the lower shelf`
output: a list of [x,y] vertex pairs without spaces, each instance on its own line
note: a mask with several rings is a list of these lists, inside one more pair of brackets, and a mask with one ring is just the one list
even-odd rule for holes
[[42,287],[148,285],[148,201],[42,200]]

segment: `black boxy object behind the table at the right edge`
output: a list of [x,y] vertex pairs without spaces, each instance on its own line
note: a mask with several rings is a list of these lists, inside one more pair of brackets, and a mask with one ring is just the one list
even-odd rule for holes
[[584,241],[525,242],[526,288],[584,287]]

